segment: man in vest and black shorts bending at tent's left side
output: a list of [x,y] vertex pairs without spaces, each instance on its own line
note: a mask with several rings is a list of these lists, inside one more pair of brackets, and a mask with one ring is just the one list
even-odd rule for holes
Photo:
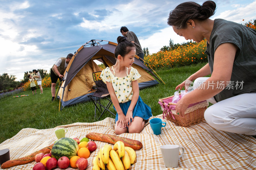
[[66,67],[68,66],[68,63],[70,62],[71,58],[73,57],[73,54],[68,54],[68,56],[59,58],[52,66],[51,68],[51,81],[52,81],[52,101],[55,97],[55,86],[57,83],[58,78],[61,80],[63,78],[63,74],[66,70]]

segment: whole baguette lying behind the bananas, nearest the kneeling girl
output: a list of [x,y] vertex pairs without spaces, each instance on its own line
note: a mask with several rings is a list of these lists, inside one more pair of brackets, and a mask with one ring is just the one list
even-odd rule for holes
[[86,135],[88,139],[98,140],[102,142],[108,142],[110,144],[115,144],[117,141],[122,141],[124,146],[129,146],[134,150],[140,150],[142,148],[142,143],[137,140],[129,139],[126,137],[119,137],[116,135],[108,135],[101,133],[88,133]]

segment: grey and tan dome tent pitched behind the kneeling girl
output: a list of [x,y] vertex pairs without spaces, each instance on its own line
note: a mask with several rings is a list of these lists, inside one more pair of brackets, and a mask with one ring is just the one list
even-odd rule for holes
[[[100,43],[107,42],[106,44]],[[96,90],[92,78],[92,72],[102,69],[94,62],[98,60],[106,67],[111,67],[116,63],[115,48],[117,44],[110,41],[91,40],[81,46],[69,62],[64,73],[64,81],[58,92],[57,98],[60,99],[61,109],[65,106],[90,100],[88,95]],[[137,58],[136,58],[137,57]],[[137,69],[141,77],[138,79],[139,89],[159,84],[160,81],[154,73],[139,61],[136,55],[132,67]],[[153,78],[153,75],[155,78]]]

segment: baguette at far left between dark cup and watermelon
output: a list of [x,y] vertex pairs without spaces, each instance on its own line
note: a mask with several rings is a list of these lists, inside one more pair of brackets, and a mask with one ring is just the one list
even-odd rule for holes
[[[13,160],[8,160],[6,162],[4,162],[1,166],[1,168],[9,168],[9,167],[12,167],[12,166],[17,166],[17,165],[23,165],[23,164],[26,164],[26,163],[29,163],[29,162],[32,162],[35,160],[35,156],[36,154],[38,153],[50,153],[51,152],[51,149],[52,149],[52,145],[50,146],[47,146],[39,151],[36,151],[34,153],[31,153],[30,155],[28,156],[25,156],[25,157],[22,157],[22,158],[18,158],[18,159],[13,159]],[[50,149],[49,149],[50,148]]]

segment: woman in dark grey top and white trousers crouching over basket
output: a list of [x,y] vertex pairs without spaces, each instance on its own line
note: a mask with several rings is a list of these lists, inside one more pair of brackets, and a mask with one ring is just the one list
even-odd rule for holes
[[[206,122],[215,129],[256,135],[256,31],[223,19],[209,19],[216,4],[201,6],[185,2],[170,12],[168,25],[186,40],[207,40],[208,63],[176,87],[190,80],[198,87],[185,95],[176,106],[184,117],[191,103],[202,100],[214,105],[204,113]],[[211,74],[210,78],[202,78]]]

